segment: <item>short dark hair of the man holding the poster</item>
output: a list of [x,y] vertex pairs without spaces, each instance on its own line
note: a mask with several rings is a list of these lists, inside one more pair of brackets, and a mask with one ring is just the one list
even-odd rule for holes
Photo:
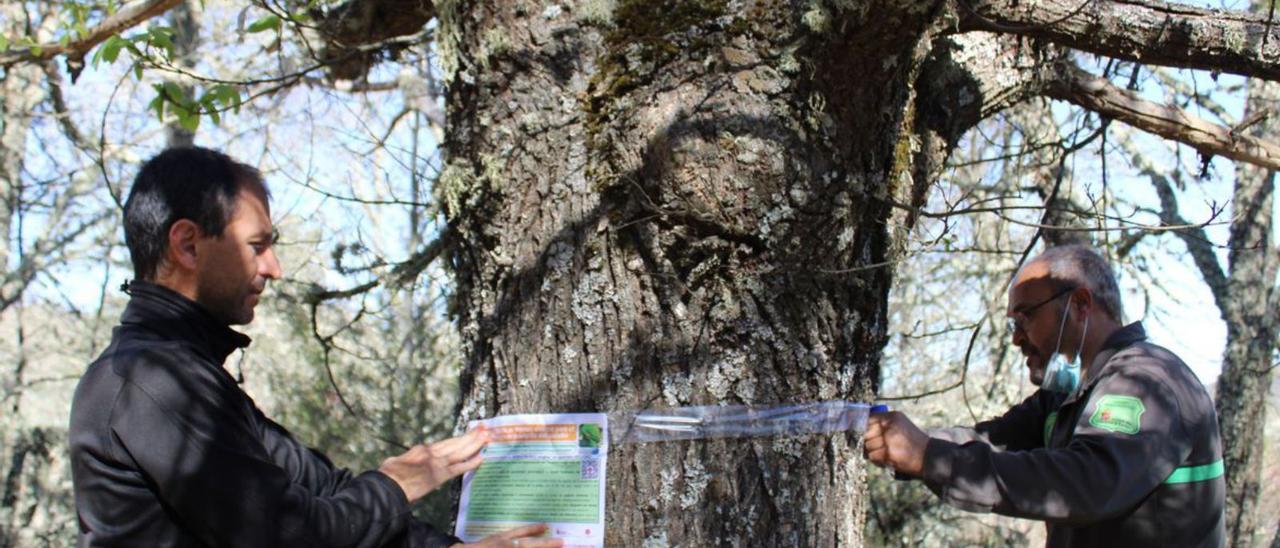
[[189,219],[207,236],[223,236],[242,188],[271,196],[256,168],[216,150],[168,149],[142,164],[124,202],[124,243],[133,277],[155,280],[169,247],[169,228],[179,219]]

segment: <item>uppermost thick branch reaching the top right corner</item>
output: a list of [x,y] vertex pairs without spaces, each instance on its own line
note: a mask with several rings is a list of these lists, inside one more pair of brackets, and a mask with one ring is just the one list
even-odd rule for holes
[[1265,15],[1158,0],[956,1],[963,32],[1006,32],[1144,64],[1280,81],[1280,26]]

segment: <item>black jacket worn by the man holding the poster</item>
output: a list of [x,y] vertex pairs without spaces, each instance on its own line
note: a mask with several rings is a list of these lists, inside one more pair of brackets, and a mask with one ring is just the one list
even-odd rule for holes
[[352,475],[266,419],[223,369],[248,337],[150,283],[76,388],[82,547],[448,545],[387,475]]

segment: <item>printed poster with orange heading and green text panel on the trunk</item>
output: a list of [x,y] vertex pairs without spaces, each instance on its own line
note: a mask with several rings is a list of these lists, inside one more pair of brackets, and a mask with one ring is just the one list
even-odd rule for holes
[[604,545],[604,414],[506,415],[471,421],[489,429],[484,463],[462,476],[454,535],[476,542],[548,524],[566,547]]

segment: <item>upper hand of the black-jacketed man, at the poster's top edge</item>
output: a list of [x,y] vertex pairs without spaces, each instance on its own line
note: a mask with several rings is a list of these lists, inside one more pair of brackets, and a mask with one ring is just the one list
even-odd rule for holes
[[445,481],[480,466],[480,449],[488,443],[489,431],[481,425],[457,438],[413,446],[383,461],[378,471],[396,480],[412,504]]

